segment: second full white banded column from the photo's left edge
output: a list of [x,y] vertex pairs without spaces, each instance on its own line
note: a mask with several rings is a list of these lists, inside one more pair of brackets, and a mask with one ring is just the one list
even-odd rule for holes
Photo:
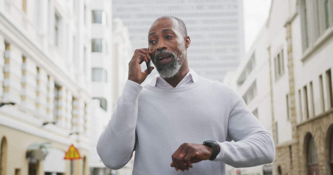
[[23,57],[21,109],[34,115],[36,112],[37,67],[28,57]]

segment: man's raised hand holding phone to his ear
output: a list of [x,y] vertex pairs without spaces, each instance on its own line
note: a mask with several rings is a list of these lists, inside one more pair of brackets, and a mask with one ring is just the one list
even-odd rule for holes
[[138,84],[141,84],[146,80],[147,76],[152,72],[154,67],[150,67],[150,71],[148,71],[147,69],[145,71],[142,71],[140,64],[144,61],[148,62],[148,60],[151,59],[149,55],[151,53],[152,51],[147,48],[135,50],[132,60],[128,64],[128,80],[134,81]]

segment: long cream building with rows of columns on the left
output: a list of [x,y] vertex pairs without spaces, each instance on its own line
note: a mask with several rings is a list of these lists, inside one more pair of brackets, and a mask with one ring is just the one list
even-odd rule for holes
[[89,4],[0,0],[1,175],[89,174]]

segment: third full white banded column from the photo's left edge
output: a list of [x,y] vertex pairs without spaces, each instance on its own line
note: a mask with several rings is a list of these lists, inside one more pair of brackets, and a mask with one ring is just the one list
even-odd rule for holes
[[44,120],[47,119],[46,117],[47,83],[48,83],[47,72],[42,68],[37,68],[37,88],[36,88],[37,115],[39,115]]

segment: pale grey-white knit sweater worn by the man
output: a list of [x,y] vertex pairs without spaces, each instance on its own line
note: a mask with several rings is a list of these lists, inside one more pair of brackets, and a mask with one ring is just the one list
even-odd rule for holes
[[[213,161],[193,164],[189,171],[170,167],[182,143],[219,143]],[[230,142],[234,140],[235,142]],[[111,169],[122,168],[135,153],[133,174],[226,174],[225,164],[250,167],[271,163],[271,135],[243,99],[230,87],[199,77],[188,86],[159,88],[128,80],[97,152]]]

